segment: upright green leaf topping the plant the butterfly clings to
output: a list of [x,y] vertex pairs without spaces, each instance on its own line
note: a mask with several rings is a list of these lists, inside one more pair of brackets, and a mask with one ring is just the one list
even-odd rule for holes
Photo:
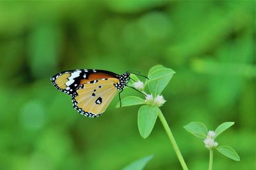
[[163,92],[174,73],[175,71],[164,66],[154,66],[148,72],[149,80],[146,81],[145,85],[148,85],[148,88],[153,96],[157,96],[157,94],[161,94],[161,92]]

